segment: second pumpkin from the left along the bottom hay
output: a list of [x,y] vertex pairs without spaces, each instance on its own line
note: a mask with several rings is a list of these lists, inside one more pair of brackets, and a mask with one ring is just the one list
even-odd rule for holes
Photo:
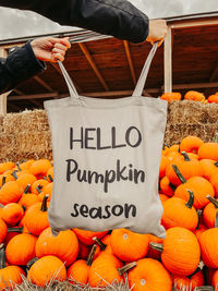
[[45,287],[55,279],[64,281],[66,279],[66,269],[60,258],[44,256],[31,266],[27,279],[37,286]]

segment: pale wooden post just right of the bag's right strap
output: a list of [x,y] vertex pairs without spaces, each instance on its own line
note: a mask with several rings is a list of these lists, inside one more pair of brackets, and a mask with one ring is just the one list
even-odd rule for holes
[[172,92],[172,33],[168,27],[165,38],[165,93]]

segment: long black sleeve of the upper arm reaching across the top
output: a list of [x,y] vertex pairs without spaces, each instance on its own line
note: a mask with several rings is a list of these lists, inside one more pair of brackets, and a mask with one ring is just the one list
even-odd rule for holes
[[33,10],[60,23],[132,43],[148,36],[148,17],[126,0],[0,0],[0,5]]

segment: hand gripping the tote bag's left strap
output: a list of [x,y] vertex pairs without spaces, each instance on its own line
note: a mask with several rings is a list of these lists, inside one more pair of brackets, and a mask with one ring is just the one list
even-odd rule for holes
[[71,47],[69,37],[41,37],[34,39],[31,45],[38,60],[49,62],[62,62],[65,51]]

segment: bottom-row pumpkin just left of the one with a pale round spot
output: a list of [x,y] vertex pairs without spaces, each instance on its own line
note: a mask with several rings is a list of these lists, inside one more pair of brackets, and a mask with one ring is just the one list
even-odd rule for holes
[[123,277],[118,272],[118,268],[121,267],[122,263],[116,256],[105,253],[101,254],[90,266],[88,278],[90,287],[108,286],[114,280],[121,282]]

